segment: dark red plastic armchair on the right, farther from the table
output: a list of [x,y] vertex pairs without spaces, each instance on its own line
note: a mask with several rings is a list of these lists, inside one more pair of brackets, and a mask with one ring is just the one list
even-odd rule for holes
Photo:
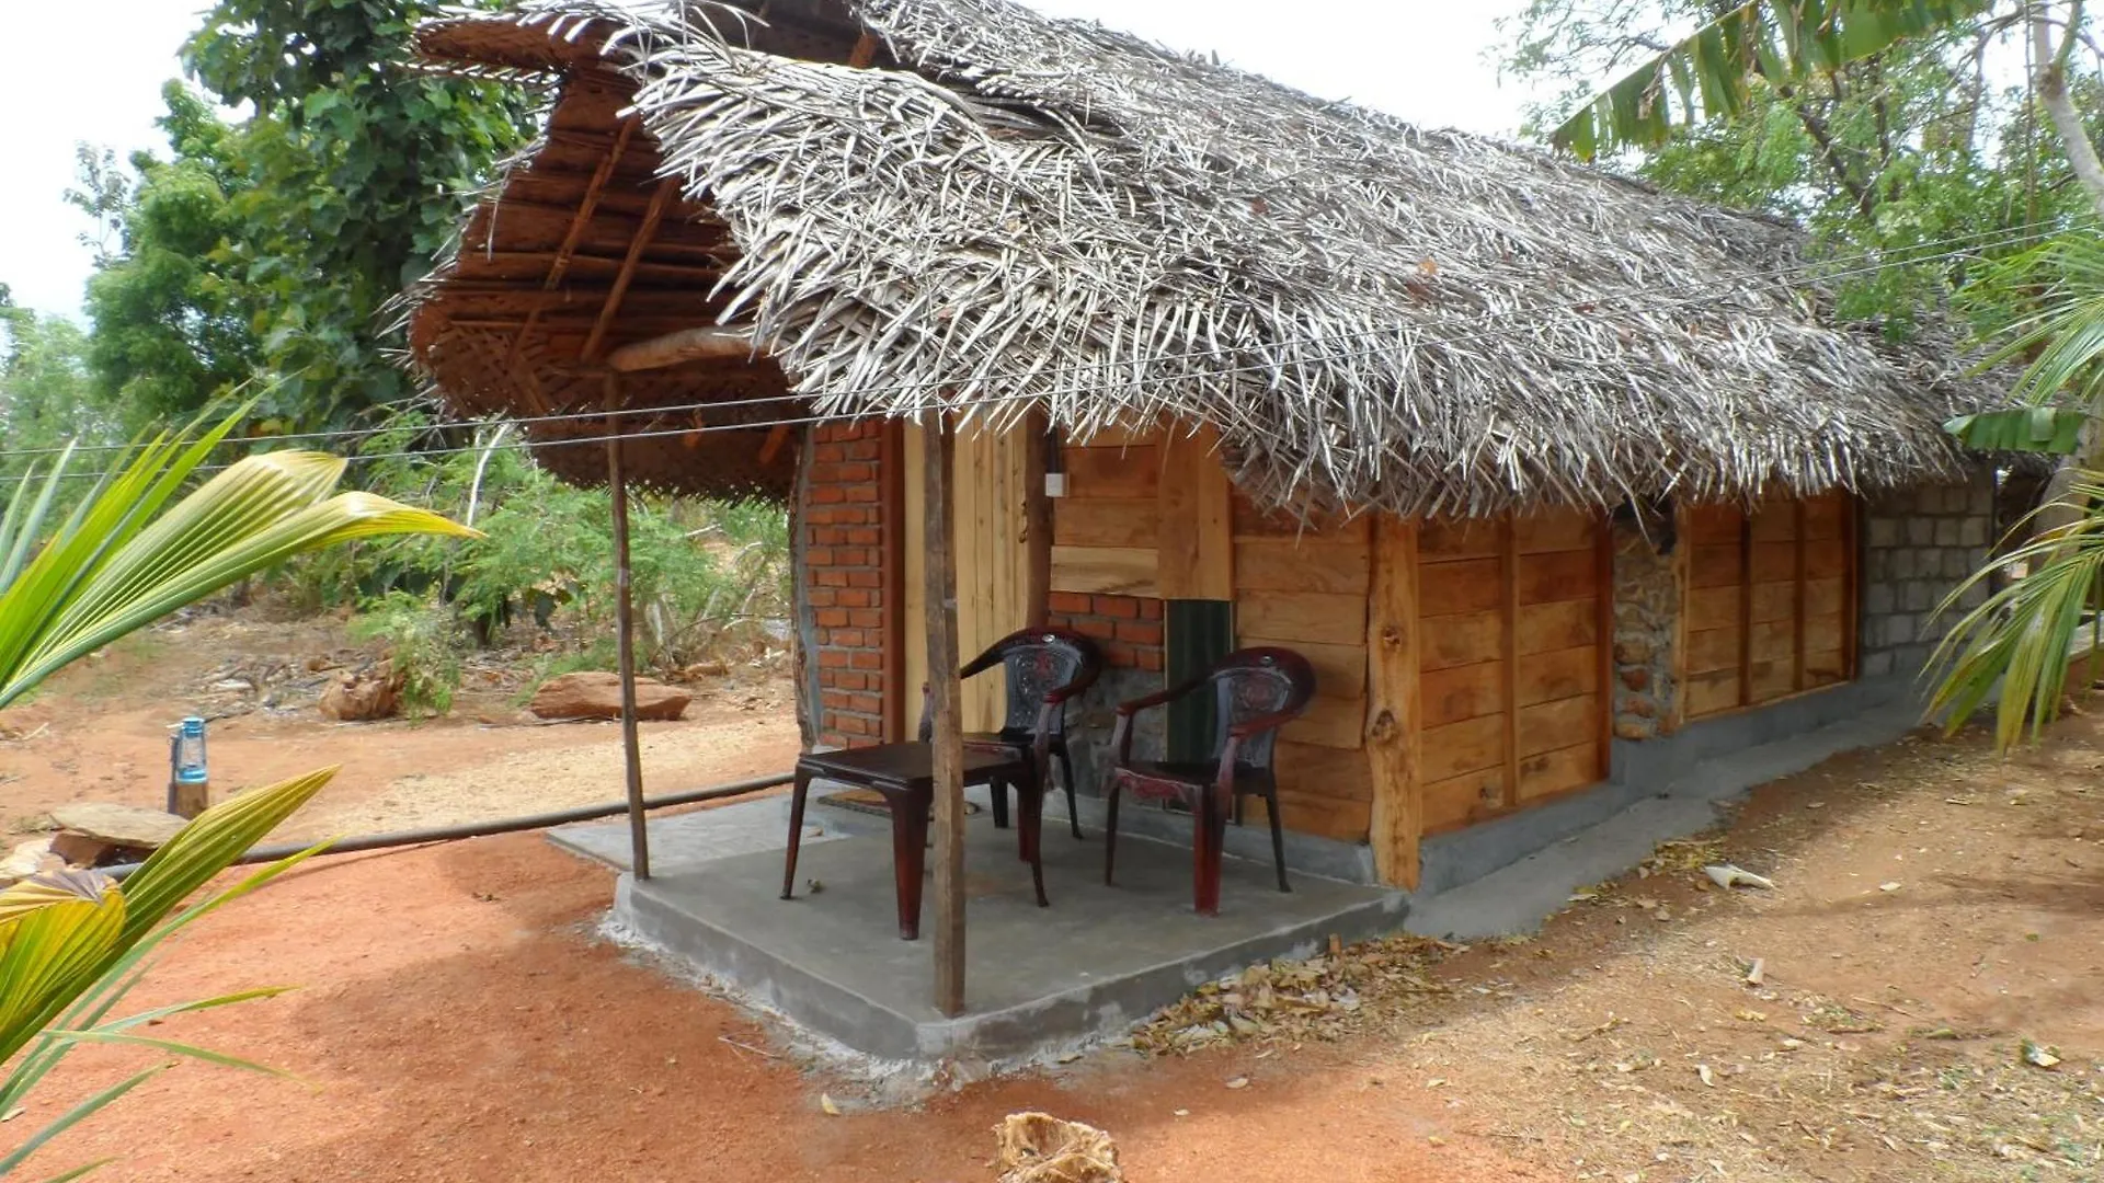
[[[1159,707],[1201,686],[1216,701],[1216,743],[1212,760],[1161,762],[1132,758],[1132,716]],[[1193,897],[1199,916],[1220,914],[1220,848],[1227,815],[1241,823],[1241,798],[1262,798],[1271,815],[1271,859],[1286,884],[1286,827],[1279,823],[1279,783],[1271,768],[1277,730],[1307,711],[1315,697],[1315,667],[1290,648],[1241,648],[1212,669],[1159,695],[1117,705],[1111,733],[1109,819],[1102,844],[1102,882],[1111,882],[1117,861],[1117,798],[1130,789],[1142,798],[1180,800],[1191,810]]]

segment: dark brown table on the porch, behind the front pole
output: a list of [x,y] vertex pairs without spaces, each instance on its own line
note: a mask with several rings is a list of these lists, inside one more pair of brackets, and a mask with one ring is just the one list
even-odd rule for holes
[[[783,899],[795,895],[795,857],[804,840],[804,798],[812,779],[884,794],[892,815],[892,878],[898,890],[898,937],[919,939],[922,874],[928,865],[928,810],[934,806],[934,749],[928,743],[877,743],[844,751],[812,751],[795,762],[795,796],[789,798],[789,859],[783,867]],[[1046,867],[1039,850],[1044,831],[1044,787],[1029,758],[991,747],[964,749],[964,783],[1002,781],[1016,787],[1016,840],[1031,865],[1037,907],[1046,901]]]

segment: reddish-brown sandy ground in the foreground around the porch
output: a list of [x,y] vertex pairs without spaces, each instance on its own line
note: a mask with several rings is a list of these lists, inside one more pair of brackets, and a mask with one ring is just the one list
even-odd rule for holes
[[[457,773],[539,768],[524,743],[467,749],[518,728],[347,733],[278,743],[368,762],[450,735],[429,749],[429,796]],[[95,768],[99,741],[74,743]],[[890,1109],[600,943],[606,871],[537,836],[351,855],[210,918],[141,998],[303,983],[160,1029],[297,1082],[183,1065],[40,1160],[122,1156],[116,1177],[147,1181],[985,1181],[991,1126],[1044,1107],[1111,1130],[1147,1183],[2089,1181],[2104,1177],[2100,768],[2098,718],[2007,762],[1976,739],[1839,758],[1761,789],[1713,842],[1580,893],[1540,935],[1450,954],[1427,996],[1315,1036],[1105,1048]],[[1778,888],[1704,888],[1694,865],[1715,857]],[[2060,1063],[2026,1063],[2026,1040]],[[137,1063],[80,1055],[25,1124]]]

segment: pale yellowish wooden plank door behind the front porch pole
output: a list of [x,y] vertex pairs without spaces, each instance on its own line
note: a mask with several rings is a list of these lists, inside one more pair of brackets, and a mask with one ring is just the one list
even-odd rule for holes
[[[1037,615],[1031,594],[1029,547],[1029,432],[972,432],[957,436],[953,472],[951,545],[957,549],[957,659],[970,661],[995,640],[1025,627]],[[905,478],[905,562],[901,589],[905,604],[905,695],[907,726],[919,726],[919,693],[928,682],[926,617],[926,486],[922,465],[928,448],[919,427],[907,427],[901,446]],[[1008,688],[999,674],[964,684],[966,730],[995,730],[1008,709]]]

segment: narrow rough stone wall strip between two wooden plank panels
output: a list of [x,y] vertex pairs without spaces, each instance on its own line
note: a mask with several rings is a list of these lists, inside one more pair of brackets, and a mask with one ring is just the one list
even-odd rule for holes
[[1664,522],[1650,535],[1633,520],[1614,522],[1614,735],[1654,739],[1679,728],[1673,640],[1681,585],[1671,554],[1658,554]]

